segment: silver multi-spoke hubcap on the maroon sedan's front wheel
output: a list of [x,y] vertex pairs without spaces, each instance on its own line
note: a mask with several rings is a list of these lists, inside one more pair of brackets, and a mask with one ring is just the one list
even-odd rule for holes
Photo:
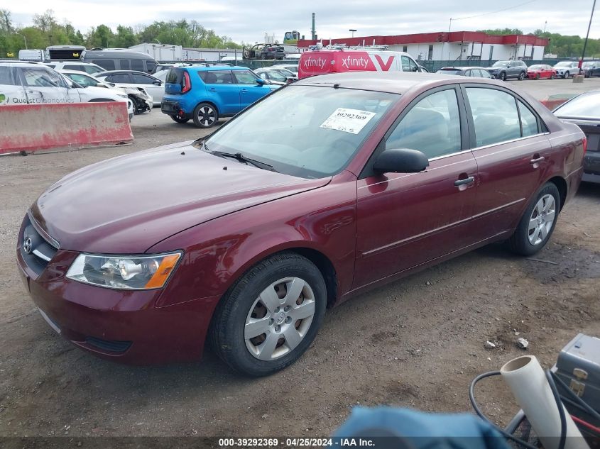
[[279,279],[258,295],[244,326],[246,348],[259,360],[276,360],[305,338],[315,316],[315,294],[300,277]]

